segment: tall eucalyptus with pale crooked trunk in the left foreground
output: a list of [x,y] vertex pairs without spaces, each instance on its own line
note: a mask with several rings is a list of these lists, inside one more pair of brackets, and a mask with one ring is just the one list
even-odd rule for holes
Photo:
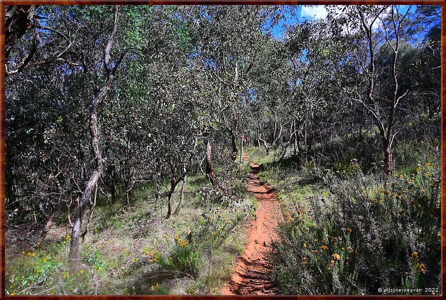
[[[54,123],[48,124],[42,130],[43,132],[39,133],[52,138],[56,135],[59,139],[61,136],[57,136],[57,134],[66,134],[67,136],[63,135],[62,137],[69,141],[60,145],[57,144],[57,140],[48,143],[57,155],[52,155],[51,160],[48,160],[48,153],[43,151],[47,153],[45,158],[42,158],[43,161],[47,164],[50,162],[55,164],[62,155],[62,157],[68,156],[71,159],[64,159],[65,162],[74,161],[75,165],[79,166],[78,170],[72,172],[71,179],[68,176],[65,177],[65,183],[71,186],[69,190],[74,190],[78,196],[78,205],[72,222],[70,249],[70,259],[72,265],[75,266],[79,261],[79,238],[86,234],[86,231],[82,233],[86,205],[90,203],[91,193],[97,186],[107,160],[101,147],[101,126],[99,124],[103,120],[101,115],[103,103],[112,90],[112,83],[118,70],[125,69],[125,64],[122,64],[121,67],[121,63],[126,57],[134,58],[141,54],[154,55],[158,48],[153,47],[151,43],[154,39],[150,39],[150,31],[144,31],[144,34],[149,37],[144,38],[141,36],[143,32],[135,30],[133,26],[135,22],[150,19],[148,17],[150,16],[150,7],[148,6],[122,7],[121,13],[126,22],[121,25],[120,31],[118,30],[117,6],[114,6],[114,9],[111,6],[41,6],[39,9],[47,15],[46,25],[51,26],[51,30],[45,31],[45,37],[41,33],[41,44],[37,48],[37,52],[31,57],[26,67],[15,73],[18,77],[10,76],[11,80],[7,85],[8,88],[13,87],[16,83],[15,80],[22,77],[42,82],[42,70],[45,69],[46,72],[49,72],[48,66],[52,65],[56,67],[56,72],[53,74],[49,72],[48,77],[45,78],[46,81],[42,82],[42,87],[39,89],[45,93],[46,82],[59,82],[59,94],[54,97],[56,107],[60,110],[72,108],[71,105],[74,105],[76,108],[73,111],[64,110],[67,119],[64,119],[65,115],[59,115],[60,118],[53,121],[55,125],[53,125]],[[75,34],[66,29],[70,27],[71,23],[74,24],[72,28],[75,29]],[[162,27],[160,20],[154,20],[153,23],[159,24],[155,28]],[[23,43],[28,43],[28,40],[25,35]],[[58,41],[62,42],[58,43]],[[63,43],[68,43],[68,46]],[[59,51],[60,49],[62,49],[63,57],[59,55],[62,53]],[[10,63],[13,64],[14,60],[11,60]],[[73,120],[78,121],[75,123],[80,127],[78,133],[71,130],[63,132],[59,129],[62,125],[66,126],[70,115]],[[51,116],[53,117],[54,114]],[[71,126],[66,127],[70,128]],[[82,139],[76,139],[77,136]],[[73,149],[78,149],[78,153],[73,152]],[[70,170],[75,170],[75,165],[71,165]],[[66,170],[64,172],[66,173]],[[53,172],[48,172],[48,174],[50,177],[53,176]],[[59,176],[59,172],[56,174]],[[58,184],[57,181],[52,180],[55,185]],[[48,180],[42,180],[42,182],[48,182]],[[75,189],[72,188],[73,186]]]

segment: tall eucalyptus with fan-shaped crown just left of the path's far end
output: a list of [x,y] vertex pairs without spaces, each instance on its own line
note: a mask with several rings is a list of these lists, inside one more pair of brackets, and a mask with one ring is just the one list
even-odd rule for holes
[[217,83],[216,108],[230,136],[232,158],[238,151],[242,95],[266,48],[269,30],[279,22],[282,9],[259,5],[204,5],[191,21],[197,23],[197,57]]

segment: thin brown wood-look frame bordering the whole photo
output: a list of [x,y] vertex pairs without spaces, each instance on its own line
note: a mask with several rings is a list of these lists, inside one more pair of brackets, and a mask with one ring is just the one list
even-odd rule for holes
[[442,251],[441,251],[441,261],[442,261],[442,295],[437,296],[390,296],[390,295],[375,295],[375,296],[5,296],[4,290],[4,280],[5,280],[5,257],[4,257],[4,225],[5,225],[5,215],[4,215],[4,155],[5,155],[5,144],[4,144],[4,72],[5,72],[5,61],[4,61],[4,8],[5,5],[9,4],[283,4],[283,5],[291,5],[291,4],[369,4],[369,5],[377,5],[377,4],[431,4],[431,5],[441,5],[442,6],[442,103],[441,103],[441,177],[446,178],[446,0],[0,0],[0,299],[35,299],[35,300],[43,300],[47,298],[53,299],[89,299],[90,297],[95,297],[97,299],[108,300],[108,299],[122,299],[122,300],[135,300],[135,299],[167,299],[167,300],[195,300],[195,299],[270,299],[277,298],[282,300],[291,300],[291,299],[302,299],[302,300],[320,300],[320,299],[336,299],[336,300],[359,300],[359,299],[369,299],[369,300],[381,300],[387,298],[397,298],[397,299],[407,299],[407,300],[418,300],[418,299],[443,299],[443,295],[446,295],[446,285],[443,284],[443,280],[446,278],[446,213],[445,213],[445,205],[446,205],[446,180],[442,180],[441,182],[441,220],[442,220]]

